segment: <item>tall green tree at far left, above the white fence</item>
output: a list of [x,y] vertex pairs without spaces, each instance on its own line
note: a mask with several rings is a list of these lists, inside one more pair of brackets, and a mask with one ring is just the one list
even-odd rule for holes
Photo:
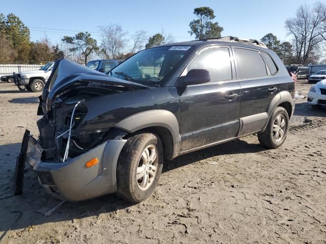
[[0,17],[0,26],[6,38],[12,42],[13,48],[17,52],[17,60],[27,61],[30,53],[30,30],[24,23],[14,14],[8,14],[4,20],[4,16]]

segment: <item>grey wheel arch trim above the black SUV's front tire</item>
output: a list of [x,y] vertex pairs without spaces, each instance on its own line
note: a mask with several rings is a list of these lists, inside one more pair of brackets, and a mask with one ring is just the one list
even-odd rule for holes
[[181,136],[176,116],[168,110],[149,110],[133,114],[115,125],[128,133],[139,131],[152,132],[162,140],[165,157],[177,157],[181,149]]

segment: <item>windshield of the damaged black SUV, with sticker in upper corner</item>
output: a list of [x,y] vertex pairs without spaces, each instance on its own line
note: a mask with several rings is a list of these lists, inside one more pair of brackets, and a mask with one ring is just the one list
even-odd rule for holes
[[191,46],[166,46],[146,49],[125,60],[108,75],[155,86],[170,73],[190,48]]

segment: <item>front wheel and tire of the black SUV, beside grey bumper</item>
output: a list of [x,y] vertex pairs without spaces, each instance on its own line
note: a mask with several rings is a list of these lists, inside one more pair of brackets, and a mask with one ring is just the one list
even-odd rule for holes
[[[156,157],[150,163],[146,158],[153,159],[153,152],[156,153]],[[163,162],[164,149],[158,136],[151,133],[131,136],[118,159],[116,195],[134,203],[147,199],[156,188]]]

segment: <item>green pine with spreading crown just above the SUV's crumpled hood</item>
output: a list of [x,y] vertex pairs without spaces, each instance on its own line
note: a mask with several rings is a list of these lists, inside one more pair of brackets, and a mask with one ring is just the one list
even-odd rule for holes
[[91,38],[91,34],[88,32],[80,32],[74,37],[64,36],[62,41],[74,45],[74,47],[69,48],[70,51],[82,52],[85,65],[87,65],[88,56],[99,49],[96,40]]

